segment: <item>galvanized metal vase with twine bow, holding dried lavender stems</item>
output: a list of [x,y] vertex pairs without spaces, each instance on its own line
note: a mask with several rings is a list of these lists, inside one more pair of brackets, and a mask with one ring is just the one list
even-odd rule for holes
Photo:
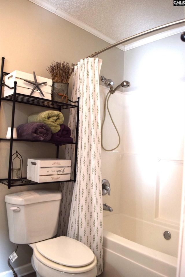
[[66,83],[53,83],[52,100],[67,103],[68,102],[68,87]]

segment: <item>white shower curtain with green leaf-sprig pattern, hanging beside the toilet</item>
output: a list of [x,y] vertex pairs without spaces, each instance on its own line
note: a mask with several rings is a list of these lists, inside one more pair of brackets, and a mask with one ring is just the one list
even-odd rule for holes
[[[99,63],[99,69],[98,69]],[[79,133],[76,182],[62,183],[58,236],[66,235],[87,245],[103,271],[103,208],[101,189],[101,123],[99,71],[101,60],[86,58],[75,66],[72,100],[79,101]],[[69,127],[75,130],[75,109]],[[72,136],[74,138],[72,133]],[[65,158],[74,166],[74,147],[66,146]],[[68,222],[69,221],[69,222]]]

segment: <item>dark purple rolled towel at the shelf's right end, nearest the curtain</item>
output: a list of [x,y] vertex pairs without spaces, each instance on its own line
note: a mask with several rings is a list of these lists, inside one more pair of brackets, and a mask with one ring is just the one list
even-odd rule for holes
[[73,142],[73,138],[71,138],[71,129],[66,126],[65,124],[60,125],[60,130],[55,134],[51,135],[51,141],[53,142],[66,142],[71,143]]

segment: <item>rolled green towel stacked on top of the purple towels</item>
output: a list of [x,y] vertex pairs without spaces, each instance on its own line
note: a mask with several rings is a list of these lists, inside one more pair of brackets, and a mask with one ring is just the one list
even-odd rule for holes
[[50,129],[52,134],[60,130],[60,125],[64,122],[62,112],[49,110],[44,112],[34,112],[28,117],[29,122],[45,123]]

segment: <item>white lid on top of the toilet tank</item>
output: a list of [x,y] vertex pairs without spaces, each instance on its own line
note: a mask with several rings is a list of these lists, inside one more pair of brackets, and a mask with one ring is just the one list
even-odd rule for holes
[[14,205],[27,205],[38,202],[60,200],[61,198],[61,191],[38,189],[5,195],[5,202]]

